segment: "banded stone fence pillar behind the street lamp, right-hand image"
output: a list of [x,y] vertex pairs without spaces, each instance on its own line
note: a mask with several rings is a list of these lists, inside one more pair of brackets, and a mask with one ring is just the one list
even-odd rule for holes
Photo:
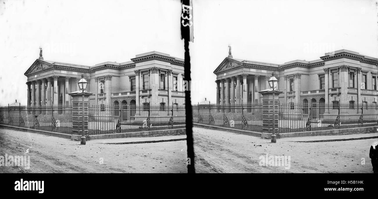
[[[279,124],[278,124],[278,114],[279,114],[279,99],[278,96],[282,91],[276,90],[274,95],[274,103],[273,103],[273,93],[272,90],[262,90],[259,91],[260,94],[262,94],[262,133],[261,137],[266,139],[271,139],[271,135],[273,133],[273,119],[275,123],[275,134],[277,138],[280,138],[279,136]],[[273,107],[274,108],[274,118],[273,118]]]

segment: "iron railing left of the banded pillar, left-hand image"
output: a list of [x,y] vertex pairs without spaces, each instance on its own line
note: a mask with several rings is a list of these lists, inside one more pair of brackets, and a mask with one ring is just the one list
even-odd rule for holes
[[72,106],[0,107],[0,123],[72,134]]

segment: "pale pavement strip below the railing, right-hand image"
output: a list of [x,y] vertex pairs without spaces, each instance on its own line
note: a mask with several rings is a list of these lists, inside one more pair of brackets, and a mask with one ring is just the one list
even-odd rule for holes
[[292,138],[280,138],[280,141],[292,141],[292,142],[333,142],[333,141],[347,141],[358,139],[377,139],[378,133],[360,133],[349,135],[318,135],[318,136],[304,136],[304,137],[292,137]]

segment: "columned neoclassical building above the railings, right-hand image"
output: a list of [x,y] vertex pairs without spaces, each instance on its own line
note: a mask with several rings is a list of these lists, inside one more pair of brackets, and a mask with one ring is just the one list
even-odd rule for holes
[[217,104],[259,103],[274,72],[280,103],[376,103],[378,59],[339,50],[319,60],[284,64],[235,59],[229,55],[215,69]]

